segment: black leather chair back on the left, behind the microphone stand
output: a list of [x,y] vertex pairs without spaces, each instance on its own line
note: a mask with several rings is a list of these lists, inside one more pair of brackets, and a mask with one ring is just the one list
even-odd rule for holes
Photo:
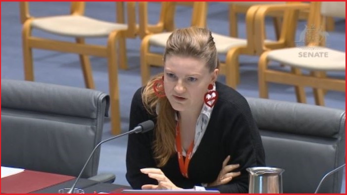
[[[1,166],[78,176],[101,141],[109,96],[95,90],[1,79]],[[82,174],[95,176],[100,148]]]

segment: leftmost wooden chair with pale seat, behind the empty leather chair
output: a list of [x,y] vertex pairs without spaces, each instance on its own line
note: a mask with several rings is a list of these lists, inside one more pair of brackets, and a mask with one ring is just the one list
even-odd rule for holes
[[[84,16],[85,2],[71,2],[68,15],[32,17],[28,2],[20,2],[21,21],[23,23],[22,41],[25,80],[33,81],[32,49],[46,49],[79,54],[85,85],[94,89],[92,69],[88,55],[108,58],[109,88],[111,96],[112,133],[120,132],[119,94],[117,68],[126,69],[125,38],[135,38],[135,2],[127,2],[127,24],[123,22],[123,2],[116,2],[117,22],[107,22]],[[55,35],[74,38],[75,43],[35,37],[32,30],[38,29]],[[107,38],[107,46],[91,45],[86,38]],[[119,49],[116,49],[116,44]],[[119,53],[119,55],[117,54]],[[119,56],[119,62],[118,62]],[[53,73],[52,73],[53,74]]]

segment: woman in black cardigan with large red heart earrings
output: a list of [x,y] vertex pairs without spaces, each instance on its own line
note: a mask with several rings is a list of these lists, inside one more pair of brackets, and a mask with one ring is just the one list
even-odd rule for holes
[[264,149],[245,98],[217,82],[218,65],[209,30],[171,34],[164,75],[137,90],[131,103],[130,129],[149,119],[156,124],[129,136],[126,178],[133,189],[248,193],[245,169],[265,165]]

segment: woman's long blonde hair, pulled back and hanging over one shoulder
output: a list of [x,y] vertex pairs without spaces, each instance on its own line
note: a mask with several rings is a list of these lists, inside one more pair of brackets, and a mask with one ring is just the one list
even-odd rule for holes
[[[177,29],[170,35],[164,51],[164,63],[168,56],[193,57],[206,62],[210,72],[219,66],[217,49],[211,31],[204,28],[189,27]],[[157,166],[164,166],[175,154],[175,110],[168,98],[158,98],[153,90],[153,83],[162,79],[163,73],[154,76],[144,88],[142,101],[150,114],[156,115],[157,124],[153,142],[154,158]]]

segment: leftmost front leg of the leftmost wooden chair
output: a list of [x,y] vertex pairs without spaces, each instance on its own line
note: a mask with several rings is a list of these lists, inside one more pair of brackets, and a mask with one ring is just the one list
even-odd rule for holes
[[30,21],[24,23],[22,31],[24,79],[26,81],[34,81],[33,52],[28,43],[28,39],[31,36],[30,23]]

